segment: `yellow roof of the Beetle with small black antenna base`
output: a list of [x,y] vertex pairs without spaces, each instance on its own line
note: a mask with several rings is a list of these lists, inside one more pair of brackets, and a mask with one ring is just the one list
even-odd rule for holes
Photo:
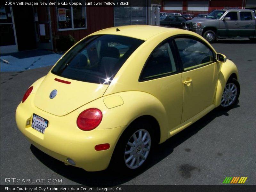
[[166,28],[166,27],[160,27],[155,25],[127,25],[127,26],[118,26],[118,27],[102,29],[100,31],[92,33],[91,35],[103,35],[103,34],[122,35],[122,36],[133,37],[133,38],[146,41],[150,37],[166,31],[173,31],[173,34],[176,34],[177,31],[180,31],[180,33],[183,32],[182,29]]

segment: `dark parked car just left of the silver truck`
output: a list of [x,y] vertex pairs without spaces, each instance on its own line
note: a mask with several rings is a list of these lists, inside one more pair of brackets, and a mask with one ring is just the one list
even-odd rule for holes
[[182,28],[182,23],[187,20],[188,19],[183,16],[167,15],[164,18],[164,20],[160,20],[160,25],[168,26],[168,27],[175,27],[175,28]]

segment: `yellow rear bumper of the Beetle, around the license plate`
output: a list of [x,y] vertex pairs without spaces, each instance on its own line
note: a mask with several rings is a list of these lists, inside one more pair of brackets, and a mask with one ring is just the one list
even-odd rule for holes
[[[76,167],[86,171],[100,171],[108,167],[117,140],[126,126],[82,131],[76,126],[76,118],[79,115],[77,111],[66,116],[54,116],[31,105],[31,98],[32,95],[18,106],[16,123],[36,148],[63,163],[69,164],[67,158],[70,158],[76,163]],[[26,126],[27,120],[32,120],[33,113],[49,121],[44,134],[33,129],[31,125]],[[104,143],[109,143],[110,148],[103,151],[94,149],[95,145]]]

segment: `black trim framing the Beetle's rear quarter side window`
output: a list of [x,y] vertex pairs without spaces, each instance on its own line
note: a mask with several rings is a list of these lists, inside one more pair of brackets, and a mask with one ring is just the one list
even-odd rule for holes
[[[139,76],[139,80],[138,80],[139,82],[150,81],[150,80],[153,80],[153,79],[159,79],[159,78],[162,78],[162,77],[172,76],[172,75],[175,75],[175,74],[178,74],[178,73],[181,72],[180,65],[178,63],[179,61],[177,60],[177,57],[176,57],[176,50],[175,50],[175,48],[172,44],[172,39],[173,39],[173,37],[168,37],[167,39],[164,39],[162,42],[160,42],[159,44],[156,45],[156,47],[150,53],[146,62],[143,65],[143,68],[140,71],[140,76]],[[161,44],[164,44],[165,42],[168,43],[170,48],[171,48],[173,59],[174,59],[175,66],[176,66],[176,72],[174,72],[174,73],[171,73],[171,72],[170,73],[165,73],[163,75],[160,74],[159,76],[152,76],[151,78],[148,78],[148,79],[142,79],[141,75],[142,75],[143,70],[145,69],[146,64],[148,63],[149,58],[151,57],[153,52],[156,50],[156,48],[158,48]]]

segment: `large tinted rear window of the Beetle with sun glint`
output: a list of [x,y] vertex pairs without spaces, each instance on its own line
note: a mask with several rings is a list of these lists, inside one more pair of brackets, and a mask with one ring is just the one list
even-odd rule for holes
[[51,72],[78,81],[108,84],[143,42],[127,36],[89,36],[63,56]]

